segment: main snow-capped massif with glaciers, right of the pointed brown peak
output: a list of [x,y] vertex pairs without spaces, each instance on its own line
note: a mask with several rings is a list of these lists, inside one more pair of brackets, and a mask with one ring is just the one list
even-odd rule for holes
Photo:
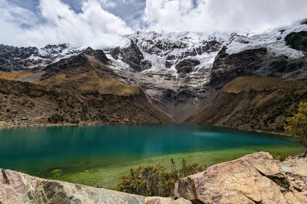
[[[285,40],[290,33],[301,31],[307,31],[306,24],[229,34],[180,32],[161,35],[139,31],[123,36],[125,43],[105,52],[119,74],[133,75],[129,82],[141,85],[150,95],[159,96],[161,90],[166,89],[188,90],[199,95],[208,89],[208,84],[223,85],[242,74],[305,79],[305,75],[300,73],[295,78],[293,73],[304,66],[305,62],[299,61],[305,56],[304,51],[290,47]],[[260,48],[263,50],[257,50]],[[224,64],[219,65],[219,60]],[[133,74],[126,72],[129,67]],[[278,67],[280,70],[276,71]],[[292,68],[285,70],[284,67]]]

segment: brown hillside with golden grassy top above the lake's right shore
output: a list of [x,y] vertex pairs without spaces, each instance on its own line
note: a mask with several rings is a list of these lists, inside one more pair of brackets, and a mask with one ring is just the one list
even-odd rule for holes
[[239,77],[204,102],[185,122],[283,132],[286,117],[307,101],[305,83],[270,77]]

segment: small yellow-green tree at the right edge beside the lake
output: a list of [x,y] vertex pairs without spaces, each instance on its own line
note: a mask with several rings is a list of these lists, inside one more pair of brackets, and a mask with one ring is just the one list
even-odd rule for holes
[[286,133],[295,137],[297,145],[307,152],[307,102],[298,105],[298,112],[287,118],[284,128]]

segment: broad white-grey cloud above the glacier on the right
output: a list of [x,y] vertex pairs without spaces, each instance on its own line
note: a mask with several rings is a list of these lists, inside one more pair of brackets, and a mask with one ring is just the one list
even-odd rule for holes
[[305,0],[147,0],[146,30],[246,31],[263,30],[307,17]]

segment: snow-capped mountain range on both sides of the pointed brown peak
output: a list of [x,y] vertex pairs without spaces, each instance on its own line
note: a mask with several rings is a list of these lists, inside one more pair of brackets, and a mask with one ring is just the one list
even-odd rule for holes
[[[122,76],[119,80],[140,85],[158,101],[178,102],[206,97],[209,89],[238,76],[306,80],[307,50],[296,48],[289,39],[291,33],[306,31],[304,23],[261,32],[161,35],[139,31],[122,36],[122,44],[103,52],[111,60],[106,67]],[[45,65],[81,54],[85,47],[60,44],[38,49],[2,44],[0,70],[46,69]]]

